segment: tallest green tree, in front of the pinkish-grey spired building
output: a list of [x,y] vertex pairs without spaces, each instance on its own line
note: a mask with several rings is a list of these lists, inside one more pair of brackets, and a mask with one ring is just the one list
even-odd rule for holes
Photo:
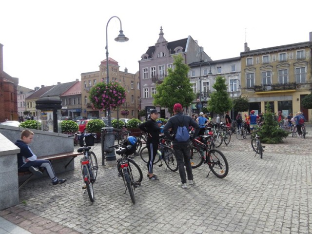
[[180,103],[185,107],[190,106],[195,99],[190,79],[187,76],[189,66],[183,63],[181,55],[174,57],[173,65],[175,69],[168,69],[168,77],[161,84],[156,85],[157,92],[153,95],[153,104],[168,108],[171,114],[175,103]]

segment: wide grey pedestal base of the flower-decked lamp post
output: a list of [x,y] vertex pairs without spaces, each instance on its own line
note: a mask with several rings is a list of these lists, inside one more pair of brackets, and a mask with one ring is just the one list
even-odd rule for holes
[[116,160],[115,149],[109,148],[115,144],[113,129],[113,127],[102,128],[102,135],[104,135],[104,139],[102,140],[102,165],[104,165],[104,152],[110,152],[106,155],[106,160]]

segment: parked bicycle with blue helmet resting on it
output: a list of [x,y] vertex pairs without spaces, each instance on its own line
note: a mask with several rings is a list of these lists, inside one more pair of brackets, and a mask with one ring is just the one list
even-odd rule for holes
[[[120,155],[121,158],[117,160],[118,177],[122,177],[124,186],[126,187],[125,193],[129,191],[131,201],[136,203],[136,197],[134,191],[141,185],[143,174],[137,163],[129,158],[136,151],[137,137],[127,137],[122,143],[111,146],[109,148],[117,149],[115,152]],[[105,152],[110,153],[110,152]]]

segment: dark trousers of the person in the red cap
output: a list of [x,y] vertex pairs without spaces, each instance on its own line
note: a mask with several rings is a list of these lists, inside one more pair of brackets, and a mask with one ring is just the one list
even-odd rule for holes
[[192,173],[192,166],[191,166],[191,159],[190,159],[191,158],[190,144],[182,144],[182,145],[174,144],[174,150],[175,150],[176,161],[177,161],[182,184],[186,183],[186,174],[185,174],[184,165],[186,168],[188,180],[193,180],[193,173]]

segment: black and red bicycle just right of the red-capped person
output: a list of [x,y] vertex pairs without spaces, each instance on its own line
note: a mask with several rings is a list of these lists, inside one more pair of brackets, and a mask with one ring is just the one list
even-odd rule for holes
[[213,148],[211,135],[199,136],[191,141],[191,165],[197,168],[203,163],[209,166],[209,176],[212,171],[215,176],[224,178],[229,173],[229,164],[226,157],[219,150]]

